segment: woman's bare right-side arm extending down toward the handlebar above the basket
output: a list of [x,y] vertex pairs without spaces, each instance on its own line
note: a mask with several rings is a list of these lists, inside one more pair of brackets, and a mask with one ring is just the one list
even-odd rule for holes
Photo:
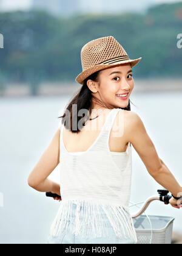
[[147,134],[140,116],[132,111],[124,114],[124,134],[126,134],[127,141],[132,143],[150,176],[174,196],[180,197],[180,193],[182,196],[182,188],[164,162],[158,157],[155,146]]

